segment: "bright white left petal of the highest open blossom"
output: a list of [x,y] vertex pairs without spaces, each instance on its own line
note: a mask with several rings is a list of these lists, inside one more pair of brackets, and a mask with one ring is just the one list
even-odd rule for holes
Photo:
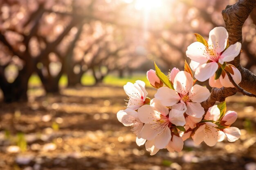
[[205,51],[206,47],[204,44],[200,42],[193,42],[190,44],[190,46],[188,46],[188,49],[186,50],[186,56],[195,62],[206,63],[210,56]]

